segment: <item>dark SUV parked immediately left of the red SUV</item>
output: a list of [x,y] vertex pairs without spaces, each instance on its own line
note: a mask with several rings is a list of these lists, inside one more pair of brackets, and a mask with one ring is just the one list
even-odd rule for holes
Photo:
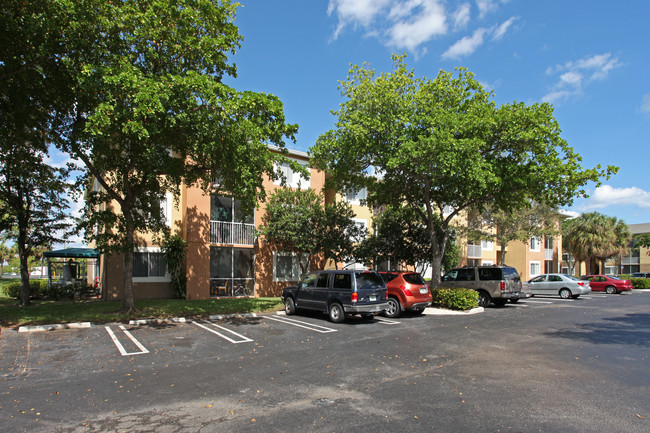
[[388,308],[386,285],[375,271],[309,272],[300,283],[282,290],[282,301],[287,314],[297,308],[322,311],[336,323],[346,314],[370,320]]

